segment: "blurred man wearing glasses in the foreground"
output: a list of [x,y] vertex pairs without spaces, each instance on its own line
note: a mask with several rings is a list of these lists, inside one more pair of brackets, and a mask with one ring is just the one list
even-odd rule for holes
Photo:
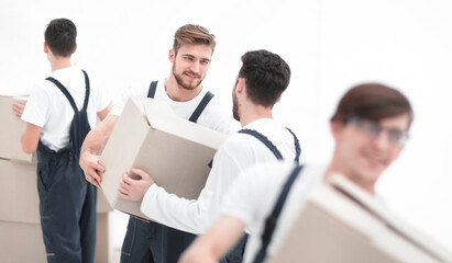
[[[309,193],[333,173],[342,174],[374,196],[378,176],[404,148],[411,121],[410,103],[399,91],[378,83],[352,88],[331,118],[335,147],[328,167],[306,165],[299,172],[293,163],[282,162],[247,170],[224,198],[219,219],[183,254],[180,262],[216,262],[239,240],[245,227],[252,232],[245,262],[265,261],[280,245]],[[295,181],[273,238],[263,245],[265,220],[288,178]]]

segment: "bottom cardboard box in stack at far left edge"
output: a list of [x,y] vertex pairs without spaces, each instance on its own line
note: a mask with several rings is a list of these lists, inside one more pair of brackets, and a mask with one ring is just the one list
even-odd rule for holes
[[0,220],[0,232],[1,262],[47,262],[40,224]]

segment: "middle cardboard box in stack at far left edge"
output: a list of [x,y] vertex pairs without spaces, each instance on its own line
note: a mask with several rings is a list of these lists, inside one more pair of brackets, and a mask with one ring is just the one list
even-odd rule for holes
[[36,164],[0,159],[0,220],[40,222]]

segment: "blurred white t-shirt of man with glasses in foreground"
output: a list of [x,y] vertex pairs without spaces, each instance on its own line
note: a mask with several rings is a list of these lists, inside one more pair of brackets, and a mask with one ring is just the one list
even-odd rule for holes
[[[227,193],[220,215],[241,219],[251,231],[244,262],[252,262],[261,249],[265,219],[272,214],[284,183],[294,169],[291,162],[265,163],[244,171]],[[326,167],[306,165],[294,182],[267,248],[269,259],[297,219],[309,194],[321,184]]]

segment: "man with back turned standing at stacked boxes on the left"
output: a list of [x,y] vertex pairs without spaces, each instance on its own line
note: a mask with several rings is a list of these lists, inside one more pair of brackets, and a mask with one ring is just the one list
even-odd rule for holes
[[52,20],[44,52],[52,73],[36,83],[21,113],[26,122],[21,137],[26,153],[37,153],[37,191],[48,262],[93,262],[96,249],[96,187],[78,165],[81,141],[103,119],[111,101],[70,57],[77,30],[67,19]]

